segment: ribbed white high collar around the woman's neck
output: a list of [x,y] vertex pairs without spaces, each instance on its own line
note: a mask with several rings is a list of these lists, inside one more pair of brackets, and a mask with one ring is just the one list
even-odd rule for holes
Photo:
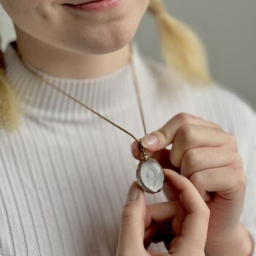
[[[132,42],[131,47],[140,97],[143,98],[153,89],[154,83],[151,72],[140,56],[137,42]],[[11,43],[4,53],[4,61],[7,67],[6,76],[23,102],[26,113],[55,120],[66,119],[67,121],[96,116],[69,97],[48,86],[45,81],[27,69],[20,61],[18,53]],[[57,78],[34,67],[29,67],[50,83],[58,86],[59,89],[99,111],[102,115],[110,110],[111,112],[113,110],[120,112],[127,108],[129,95],[135,94],[132,69],[129,63],[108,75],[93,79]]]

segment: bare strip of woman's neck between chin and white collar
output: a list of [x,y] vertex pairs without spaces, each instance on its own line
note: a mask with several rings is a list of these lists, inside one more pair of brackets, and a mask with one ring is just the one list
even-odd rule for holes
[[16,34],[18,49],[24,61],[58,78],[99,78],[129,61],[129,45],[113,53],[81,54],[45,44],[18,28]]

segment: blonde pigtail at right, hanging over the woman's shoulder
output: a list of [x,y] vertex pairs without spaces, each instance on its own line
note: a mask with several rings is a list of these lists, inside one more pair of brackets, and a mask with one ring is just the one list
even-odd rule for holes
[[162,56],[167,66],[176,69],[192,85],[210,84],[206,53],[195,32],[170,16],[162,0],[151,0],[148,10],[157,21]]

